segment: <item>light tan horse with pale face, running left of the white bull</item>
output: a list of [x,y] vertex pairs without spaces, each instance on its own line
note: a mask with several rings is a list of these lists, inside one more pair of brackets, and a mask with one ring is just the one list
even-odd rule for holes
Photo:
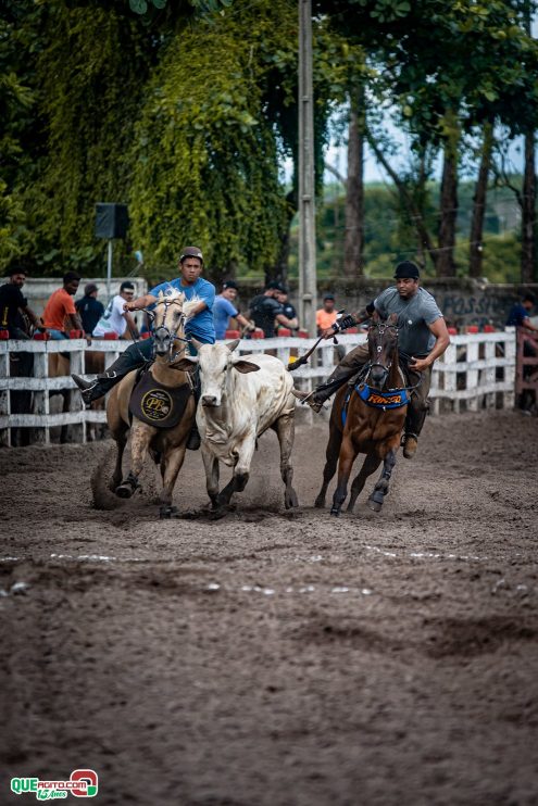
[[[185,324],[199,304],[198,298],[185,300],[179,291],[163,295],[154,308],[153,338],[155,360],[150,373],[158,383],[177,388],[189,382],[187,373],[174,368],[185,355]],[[135,386],[137,371],[129,373],[115,386],[107,403],[107,419],[116,443],[116,464],[111,481],[111,490],[120,498],[130,498],[138,488],[138,477],[142,471],[148,454],[160,462],[163,489],[161,492],[161,517],[174,512],[172,493],[177,475],[185,459],[185,450],[190,429],[195,421],[196,403],[191,394],[179,423],[172,428],[157,428],[129,416],[129,400]],[[133,423],[130,421],[133,420]],[[122,480],[122,458],[130,427],[130,471]]]

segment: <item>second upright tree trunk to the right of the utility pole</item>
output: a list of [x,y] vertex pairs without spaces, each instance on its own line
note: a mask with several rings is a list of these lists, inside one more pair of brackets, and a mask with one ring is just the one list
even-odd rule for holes
[[450,137],[443,149],[441,201],[439,219],[438,277],[455,277],[454,247],[458,214],[458,151],[456,138]]

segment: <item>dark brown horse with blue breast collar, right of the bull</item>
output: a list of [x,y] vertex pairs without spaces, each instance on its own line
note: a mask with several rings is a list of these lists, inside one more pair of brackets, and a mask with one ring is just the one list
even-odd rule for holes
[[315,506],[325,506],[327,487],[338,464],[338,484],[333,496],[331,515],[340,515],[348,494],[351,468],[359,453],[365,453],[366,458],[351,486],[348,512],[353,511],[364,482],[381,462],[381,475],[368,499],[372,509],[379,512],[388,494],[405,421],[405,401],[409,400],[398,362],[397,322],[396,314],[391,314],[387,322],[374,322],[368,330],[368,362],[355,387],[350,389],[346,385],[336,395],[330,414],[323,486],[315,500]]

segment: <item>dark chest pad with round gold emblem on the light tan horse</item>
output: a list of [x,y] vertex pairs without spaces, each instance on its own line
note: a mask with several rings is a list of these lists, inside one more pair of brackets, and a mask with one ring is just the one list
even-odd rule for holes
[[165,387],[147,371],[133,389],[129,412],[149,426],[173,428],[182,419],[190,395],[190,383]]

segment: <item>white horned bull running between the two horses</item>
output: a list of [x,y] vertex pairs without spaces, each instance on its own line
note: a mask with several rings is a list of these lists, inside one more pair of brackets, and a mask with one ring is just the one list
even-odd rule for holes
[[[202,440],[208,494],[216,514],[224,514],[235,492],[245,490],[257,439],[273,428],[280,444],[280,475],[287,509],[298,506],[291,486],[290,454],[295,436],[293,381],[284,364],[272,355],[234,355],[239,341],[228,344],[199,344],[197,357],[201,393],[197,424]],[[234,468],[226,487],[218,492],[218,462]]]

